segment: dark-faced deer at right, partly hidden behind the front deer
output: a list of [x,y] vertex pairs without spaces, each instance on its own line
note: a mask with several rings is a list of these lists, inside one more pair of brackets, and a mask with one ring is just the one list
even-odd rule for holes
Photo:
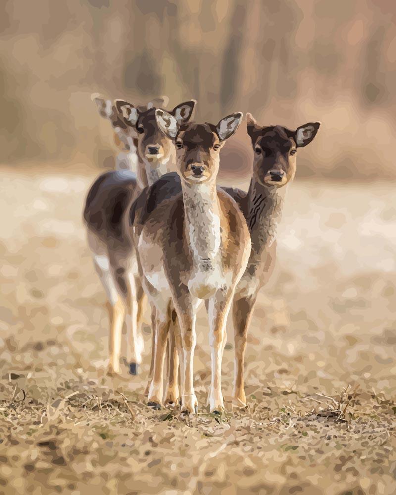
[[247,331],[259,290],[267,283],[276,256],[276,227],[283,208],[283,186],[296,172],[300,148],[309,144],[320,122],[310,122],[290,130],[282,126],[262,127],[247,114],[247,132],[254,150],[253,176],[247,193],[228,189],[237,201],[251,236],[251,254],[239,281],[232,304],[235,327],[235,385],[237,404],[246,405],[244,356]]

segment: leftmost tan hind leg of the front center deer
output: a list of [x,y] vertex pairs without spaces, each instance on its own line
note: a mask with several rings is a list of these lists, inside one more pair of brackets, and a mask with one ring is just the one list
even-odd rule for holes
[[160,409],[164,387],[164,361],[166,342],[168,339],[170,318],[169,312],[160,313],[156,309],[155,318],[155,345],[154,345],[154,370],[150,391],[148,393],[148,406]]

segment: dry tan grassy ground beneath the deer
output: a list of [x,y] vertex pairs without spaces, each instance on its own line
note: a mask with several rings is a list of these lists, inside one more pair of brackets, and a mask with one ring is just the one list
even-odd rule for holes
[[[394,185],[289,187],[247,345],[248,407],[153,412],[104,375],[108,316],[82,224],[94,173],[0,172],[0,494],[396,493]],[[147,313],[147,321],[149,314]],[[223,390],[233,377],[232,325]]]

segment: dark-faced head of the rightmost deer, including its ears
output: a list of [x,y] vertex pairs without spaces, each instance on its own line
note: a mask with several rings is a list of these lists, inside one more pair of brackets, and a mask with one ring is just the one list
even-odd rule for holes
[[295,131],[282,126],[261,127],[250,113],[247,133],[254,150],[253,174],[264,186],[281,187],[296,173],[296,154],[316,136],[320,122],[309,122]]

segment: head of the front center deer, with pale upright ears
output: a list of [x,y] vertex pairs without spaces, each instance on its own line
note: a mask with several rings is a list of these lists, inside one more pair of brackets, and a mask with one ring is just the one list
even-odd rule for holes
[[217,125],[181,123],[171,113],[161,109],[156,110],[155,116],[158,128],[176,145],[178,173],[188,183],[216,178],[219,151],[242,120],[242,113],[234,113],[221,119]]

